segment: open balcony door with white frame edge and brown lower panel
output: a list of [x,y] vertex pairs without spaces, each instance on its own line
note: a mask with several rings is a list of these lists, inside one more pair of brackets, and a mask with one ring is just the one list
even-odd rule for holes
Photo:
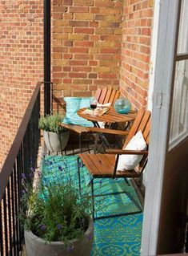
[[187,17],[187,0],[160,1],[142,255],[178,253],[185,242],[188,182]]

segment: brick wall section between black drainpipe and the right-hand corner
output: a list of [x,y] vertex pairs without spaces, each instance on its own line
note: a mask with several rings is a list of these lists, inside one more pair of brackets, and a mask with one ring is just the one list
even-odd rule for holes
[[119,84],[123,0],[54,0],[54,96],[91,95]]

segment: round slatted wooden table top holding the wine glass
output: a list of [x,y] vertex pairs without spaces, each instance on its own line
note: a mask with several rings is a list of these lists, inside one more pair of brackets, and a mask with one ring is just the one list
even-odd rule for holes
[[106,123],[124,123],[129,122],[135,119],[136,112],[130,111],[128,114],[118,114],[115,112],[114,107],[110,107],[109,110],[104,113],[102,116],[99,115],[90,115],[82,113],[86,108],[81,108],[78,110],[78,116],[85,118],[86,120],[93,122],[106,122]]

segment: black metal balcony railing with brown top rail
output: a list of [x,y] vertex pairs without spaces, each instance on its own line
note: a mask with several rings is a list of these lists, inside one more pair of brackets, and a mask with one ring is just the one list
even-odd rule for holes
[[22,173],[29,176],[37,165],[40,130],[40,85],[38,83],[0,173],[0,255],[19,255],[23,230],[18,221]]

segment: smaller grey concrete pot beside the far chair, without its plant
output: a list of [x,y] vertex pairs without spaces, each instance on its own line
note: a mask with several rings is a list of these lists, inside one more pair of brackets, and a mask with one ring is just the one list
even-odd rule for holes
[[70,132],[46,132],[44,131],[44,140],[46,147],[50,152],[61,152],[69,140]]

